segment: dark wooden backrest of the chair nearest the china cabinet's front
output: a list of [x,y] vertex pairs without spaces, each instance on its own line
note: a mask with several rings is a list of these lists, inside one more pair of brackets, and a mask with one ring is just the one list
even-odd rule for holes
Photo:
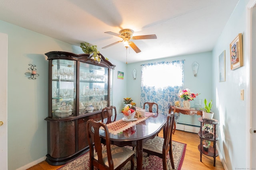
[[[108,169],[108,167],[104,164],[103,156],[102,156],[102,145],[101,143],[101,137],[99,134],[100,127],[104,128],[105,135],[106,135],[106,150],[108,155],[108,165],[109,169],[114,168],[112,155],[111,155],[111,149],[110,149],[110,140],[108,136],[108,127],[106,124],[102,122],[96,122],[93,119],[90,119],[87,121],[87,139],[89,141],[89,148],[90,148],[90,161],[92,163],[92,167],[96,166],[98,169]],[[98,155],[98,160],[94,159],[94,147],[95,152]]]

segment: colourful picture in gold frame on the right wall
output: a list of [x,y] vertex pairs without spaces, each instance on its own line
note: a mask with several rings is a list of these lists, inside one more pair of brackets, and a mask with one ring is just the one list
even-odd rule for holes
[[231,70],[243,66],[242,33],[239,33],[230,44],[230,64]]

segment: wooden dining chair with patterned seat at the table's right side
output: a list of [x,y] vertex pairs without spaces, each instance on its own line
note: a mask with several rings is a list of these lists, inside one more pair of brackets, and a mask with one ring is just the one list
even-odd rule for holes
[[163,160],[163,168],[167,170],[167,159],[166,156],[169,152],[170,162],[172,164],[172,169],[174,168],[174,161],[172,156],[172,129],[174,125],[174,113],[167,115],[167,122],[164,127],[164,138],[154,137],[153,139],[148,139],[146,143],[143,144],[143,152],[146,152],[148,156],[155,155]]

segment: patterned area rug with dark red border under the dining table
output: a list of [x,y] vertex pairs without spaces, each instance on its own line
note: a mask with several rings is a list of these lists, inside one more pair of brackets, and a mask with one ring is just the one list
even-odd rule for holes
[[[174,158],[174,165],[175,170],[180,170],[182,167],[182,163],[185,157],[186,152],[186,146],[185,143],[180,143],[176,141],[172,141],[172,152],[173,152],[173,158]],[[173,170],[169,154],[167,155],[167,169]],[[134,170],[136,170],[136,156],[134,157]],[[142,162],[142,169],[143,170],[162,170],[163,169],[163,163],[162,159],[158,158],[157,156],[147,156],[145,152],[143,152],[143,162]],[[122,170],[130,170],[130,161],[122,168]],[[76,158],[75,160],[68,162],[67,164],[63,165],[62,167],[58,168],[58,170],[88,170],[89,169],[89,152],[86,152],[82,156]],[[94,167],[94,170],[96,168]]]

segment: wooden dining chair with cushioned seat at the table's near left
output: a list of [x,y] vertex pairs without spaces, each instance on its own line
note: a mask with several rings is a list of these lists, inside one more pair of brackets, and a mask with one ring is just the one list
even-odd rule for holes
[[[100,170],[120,170],[129,161],[131,161],[131,170],[133,170],[134,151],[126,147],[110,145],[109,132],[106,124],[90,119],[87,121],[86,127],[90,148],[90,170],[93,170],[94,166]],[[101,143],[100,127],[103,127],[105,131],[106,145],[102,145]]]

